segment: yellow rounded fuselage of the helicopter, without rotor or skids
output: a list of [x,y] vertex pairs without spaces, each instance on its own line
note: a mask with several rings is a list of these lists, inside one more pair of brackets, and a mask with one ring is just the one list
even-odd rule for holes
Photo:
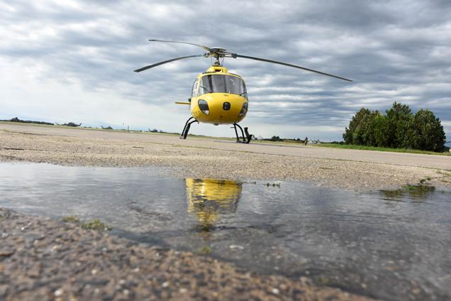
[[243,77],[211,66],[196,77],[189,101],[191,115],[205,124],[236,124],[247,114]]

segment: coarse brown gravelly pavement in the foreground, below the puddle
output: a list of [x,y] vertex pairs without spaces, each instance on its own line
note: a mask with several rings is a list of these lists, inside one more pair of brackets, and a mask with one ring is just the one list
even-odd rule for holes
[[0,300],[369,300],[0,209]]

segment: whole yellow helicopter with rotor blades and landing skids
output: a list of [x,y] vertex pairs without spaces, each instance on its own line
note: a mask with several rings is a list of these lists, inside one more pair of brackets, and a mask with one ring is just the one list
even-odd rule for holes
[[[265,58],[256,58],[248,55],[240,55],[238,53],[230,53],[225,48],[216,47],[209,48],[204,45],[199,45],[189,42],[180,42],[175,40],[149,40],[150,42],[162,42],[162,43],[180,43],[187,45],[194,45],[204,49],[206,52],[201,55],[188,55],[181,58],[172,58],[162,62],[157,62],[152,65],[134,70],[135,72],[142,72],[153,67],[157,67],[168,62],[174,62],[176,60],[184,60],[186,58],[214,58],[214,62],[206,72],[199,74],[194,80],[194,84],[191,89],[191,97],[188,102],[175,102],[176,104],[189,105],[191,111],[191,117],[186,121],[180,138],[186,139],[191,124],[195,122],[213,124],[218,126],[219,124],[233,124],[235,128],[236,141],[239,143],[250,143],[252,135],[247,131],[247,127],[243,128],[238,124],[242,121],[249,109],[247,90],[245,81],[240,75],[231,73],[226,67],[223,67],[224,58],[247,58],[250,60],[258,60],[260,62],[271,62],[273,64],[284,65],[287,67],[294,67],[309,72],[315,72],[320,75],[328,77],[335,77],[339,80],[348,80],[345,77],[337,75],[331,75],[318,70],[301,67],[298,65],[292,65],[286,62],[279,62],[276,60],[268,60]],[[240,129],[241,136],[238,134],[237,128]]]

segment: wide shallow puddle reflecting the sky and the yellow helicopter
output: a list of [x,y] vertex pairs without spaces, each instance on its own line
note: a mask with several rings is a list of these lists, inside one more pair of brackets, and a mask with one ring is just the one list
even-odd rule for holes
[[100,218],[130,239],[385,300],[451,297],[450,192],[362,194],[167,174],[0,163],[0,206]]

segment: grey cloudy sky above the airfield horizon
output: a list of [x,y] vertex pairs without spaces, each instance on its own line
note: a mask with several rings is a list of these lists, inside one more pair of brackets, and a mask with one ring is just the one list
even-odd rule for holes
[[[427,108],[451,137],[451,1],[0,0],[0,119],[182,131],[186,101],[209,58],[141,73],[221,46],[350,78],[226,59],[245,78],[256,136],[340,140],[361,107]],[[233,136],[228,126],[192,133]]]

